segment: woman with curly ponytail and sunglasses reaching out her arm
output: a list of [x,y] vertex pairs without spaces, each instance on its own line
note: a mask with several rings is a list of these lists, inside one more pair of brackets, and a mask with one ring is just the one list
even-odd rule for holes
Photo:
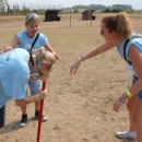
[[[123,57],[123,46],[127,39],[132,37],[132,25],[126,13],[107,15],[100,23],[100,35],[105,43],[93,48],[81,56],[70,68],[70,74],[75,74],[80,63],[88,58],[95,57],[114,47],[117,47],[119,55]],[[113,109],[119,111],[119,108],[126,104],[129,111],[130,128],[123,132],[117,132],[118,138],[133,139],[142,142],[142,38],[131,39],[126,48],[126,57],[131,61],[133,71],[132,85],[122,93]]]

